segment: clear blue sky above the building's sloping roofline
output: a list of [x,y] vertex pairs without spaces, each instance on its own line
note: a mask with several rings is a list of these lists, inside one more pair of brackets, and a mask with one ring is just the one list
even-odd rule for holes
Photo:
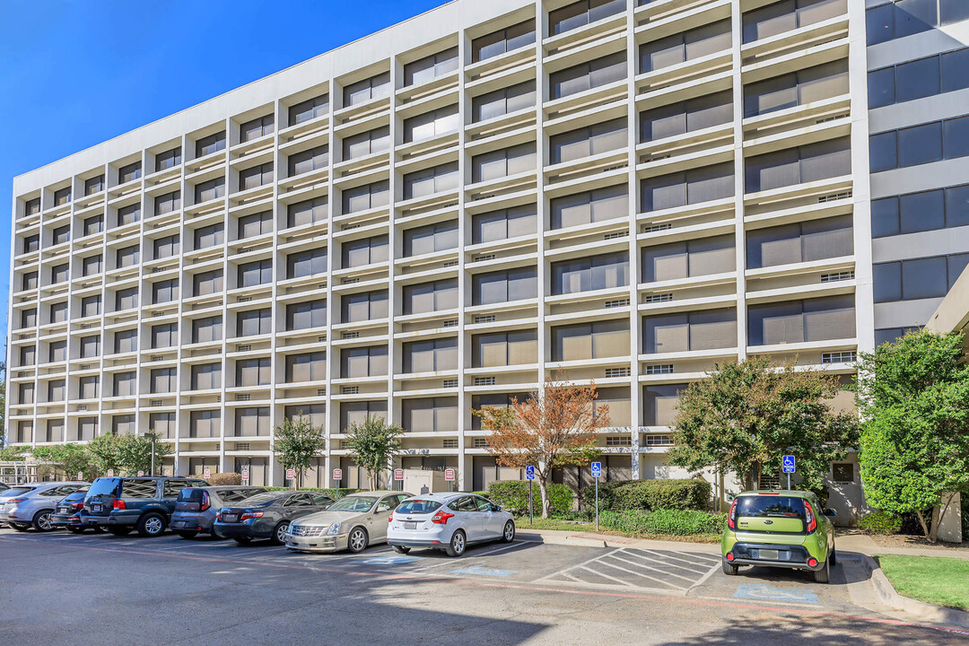
[[13,179],[443,0],[0,0],[0,282]]

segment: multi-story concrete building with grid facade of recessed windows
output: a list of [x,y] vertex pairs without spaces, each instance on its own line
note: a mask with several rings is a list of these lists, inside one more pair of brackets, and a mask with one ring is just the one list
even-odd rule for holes
[[[869,133],[956,141],[969,112],[937,55],[958,39],[896,17],[866,47],[877,4],[866,34],[854,0],[455,0],[17,177],[8,441],[154,430],[180,474],[281,484],[273,429],[301,411],[328,431],[313,483],[354,486],[343,432],[386,415],[401,466],[480,489],[518,474],[471,409],[564,370],[610,404],[608,477],[675,474],[685,384],[750,354],[848,375],[934,309],[883,304],[873,252],[969,251],[904,207],[872,239]],[[891,68],[872,128],[868,71],[928,55],[953,94],[902,103]],[[871,190],[957,165],[875,166]]]

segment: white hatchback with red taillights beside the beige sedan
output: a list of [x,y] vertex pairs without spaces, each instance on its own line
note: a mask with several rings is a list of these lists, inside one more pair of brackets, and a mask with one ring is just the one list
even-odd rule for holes
[[387,542],[406,554],[412,547],[460,556],[476,542],[515,540],[515,518],[491,501],[468,493],[439,493],[405,500],[391,514]]

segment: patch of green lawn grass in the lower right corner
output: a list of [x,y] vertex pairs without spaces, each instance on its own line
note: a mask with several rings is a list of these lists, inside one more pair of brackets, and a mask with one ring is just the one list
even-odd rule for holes
[[900,554],[875,558],[899,595],[969,610],[969,560]]

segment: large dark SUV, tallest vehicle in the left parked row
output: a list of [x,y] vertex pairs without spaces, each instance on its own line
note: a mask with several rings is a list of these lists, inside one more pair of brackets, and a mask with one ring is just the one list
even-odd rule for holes
[[81,522],[104,526],[114,536],[137,529],[142,537],[165,532],[178,492],[208,482],[193,477],[99,477],[84,497]]

